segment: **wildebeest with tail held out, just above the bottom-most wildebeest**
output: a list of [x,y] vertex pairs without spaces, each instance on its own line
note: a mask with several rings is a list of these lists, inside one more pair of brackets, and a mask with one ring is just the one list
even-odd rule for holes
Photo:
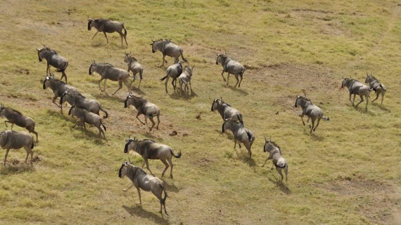
[[134,150],[138,154],[140,154],[143,158],[142,168],[146,163],[146,168],[149,170],[150,173],[152,173],[152,175],[154,175],[154,173],[149,168],[148,159],[160,159],[160,161],[164,163],[166,167],[161,173],[161,176],[164,176],[164,172],[168,168],[168,164],[166,162],[166,160],[168,160],[168,163],[170,164],[170,177],[172,178],[173,164],[171,158],[172,156],[180,158],[181,151],[178,152],[177,155],[175,155],[170,146],[161,143],[156,143],[153,140],[149,139],[138,140],[135,137],[134,138],[129,137],[128,140],[125,141],[126,143],[124,147],[124,153],[128,153],[130,150]]

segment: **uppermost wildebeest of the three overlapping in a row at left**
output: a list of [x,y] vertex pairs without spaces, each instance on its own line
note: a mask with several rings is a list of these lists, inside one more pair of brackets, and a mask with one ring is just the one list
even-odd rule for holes
[[43,89],[50,87],[52,89],[54,96],[52,102],[57,105],[57,107],[61,108],[61,113],[63,113],[63,105],[58,105],[55,100],[58,97],[63,96],[63,93],[68,89],[70,93],[80,93],[79,90],[71,85],[66,84],[65,82],[54,78],[54,75],[46,75],[45,80],[43,81]]

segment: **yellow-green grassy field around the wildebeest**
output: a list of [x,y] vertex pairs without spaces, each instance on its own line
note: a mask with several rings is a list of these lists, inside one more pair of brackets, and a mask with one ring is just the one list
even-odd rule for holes
[[[401,2],[150,2],[0,1],[0,101],[35,119],[40,141],[33,168],[23,163],[24,149],[11,151],[0,166],[0,223],[401,223]],[[121,47],[117,33],[108,34],[109,44],[102,33],[91,40],[88,16],[124,22],[128,46]],[[162,55],[151,52],[151,38],[171,39],[195,64],[192,95],[180,97],[170,83],[165,93]],[[42,89],[46,62],[38,61],[35,49],[42,43],[69,60],[69,84],[108,110],[107,142],[96,127],[72,128],[76,118],[60,113],[51,90]],[[124,108],[125,86],[111,95],[118,83],[109,80],[102,93],[100,76],[88,74],[93,60],[126,69],[125,51],[144,67],[141,88],[134,91],[160,107],[159,130],[148,132],[136,110]],[[247,68],[241,88],[233,88],[233,75],[228,86],[220,75],[216,53],[225,51]],[[366,72],[387,87],[383,105],[369,102],[367,111],[365,102],[353,107],[348,90],[340,88],[342,76],[364,82]],[[294,107],[302,89],[330,118],[312,134]],[[256,135],[252,159],[244,147],[233,149],[231,132],[222,134],[223,120],[211,112],[220,95]],[[0,129],[7,129],[3,119]],[[135,188],[122,191],[130,183],[118,177],[128,159],[128,135],[182,151],[173,158],[174,178],[169,171],[162,178],[168,216],[158,213],[150,192],[141,191],[141,208]],[[288,161],[288,188],[278,185],[271,162],[261,167],[268,156],[265,135]],[[130,158],[142,163],[138,155]],[[149,164],[160,176],[162,162]]]

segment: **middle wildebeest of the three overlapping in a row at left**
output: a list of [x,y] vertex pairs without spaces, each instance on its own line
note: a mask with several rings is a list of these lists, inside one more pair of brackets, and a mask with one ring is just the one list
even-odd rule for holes
[[64,102],[68,102],[77,107],[86,108],[88,111],[98,115],[100,115],[99,111],[102,110],[105,113],[103,118],[107,118],[108,116],[107,111],[102,108],[102,105],[97,100],[89,99],[80,93],[71,93],[68,89],[64,91],[61,96],[60,105]]

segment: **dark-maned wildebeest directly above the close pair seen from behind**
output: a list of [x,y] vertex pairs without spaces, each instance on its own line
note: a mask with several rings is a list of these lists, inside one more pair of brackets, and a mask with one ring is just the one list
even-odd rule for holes
[[178,57],[181,55],[182,60],[186,61],[184,55],[182,54],[183,52],[182,48],[176,45],[175,43],[171,42],[170,40],[166,39],[152,40],[152,43],[150,45],[152,45],[153,53],[159,50],[163,54],[162,66],[164,66],[164,61],[167,62],[167,60],[164,59],[166,55],[175,58],[176,61],[179,60]]

